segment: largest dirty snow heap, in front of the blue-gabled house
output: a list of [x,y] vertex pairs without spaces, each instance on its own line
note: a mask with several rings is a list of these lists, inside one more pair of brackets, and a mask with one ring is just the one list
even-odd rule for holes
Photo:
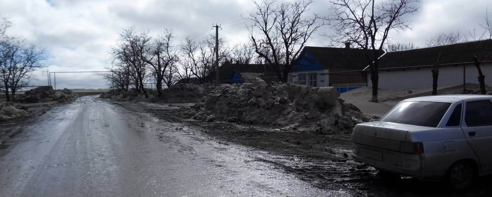
[[195,119],[244,122],[286,127],[303,132],[333,134],[351,131],[369,121],[352,104],[339,99],[333,87],[313,88],[298,84],[222,84],[192,108]]

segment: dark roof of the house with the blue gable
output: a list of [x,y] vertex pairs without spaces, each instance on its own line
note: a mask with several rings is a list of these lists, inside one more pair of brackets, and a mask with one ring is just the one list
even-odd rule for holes
[[[368,50],[369,56],[374,59],[374,50]],[[305,53],[312,55],[305,55]],[[380,54],[383,54],[381,52]],[[314,59],[314,60],[312,60]],[[367,65],[364,49],[356,48],[336,48],[336,47],[313,47],[306,46],[296,62],[317,61],[325,69],[330,70],[362,70]]]

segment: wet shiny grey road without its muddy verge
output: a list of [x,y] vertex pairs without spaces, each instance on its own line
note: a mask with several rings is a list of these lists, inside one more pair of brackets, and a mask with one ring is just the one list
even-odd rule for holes
[[82,97],[0,150],[2,197],[345,196],[185,125]]

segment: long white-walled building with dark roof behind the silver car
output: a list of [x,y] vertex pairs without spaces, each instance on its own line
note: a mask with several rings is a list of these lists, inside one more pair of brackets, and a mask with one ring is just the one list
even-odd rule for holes
[[[437,47],[388,52],[379,61],[379,84],[381,90],[417,89],[432,87],[432,66],[441,53],[438,87],[463,84],[478,84],[478,70],[473,64],[476,55],[485,84],[492,86],[492,40],[480,40]],[[368,85],[372,86],[369,67]]]

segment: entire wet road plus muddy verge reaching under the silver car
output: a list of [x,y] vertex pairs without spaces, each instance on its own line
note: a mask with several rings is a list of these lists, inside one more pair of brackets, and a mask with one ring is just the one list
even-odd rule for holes
[[[487,196],[491,177],[465,191],[382,177],[350,159],[349,133],[316,135],[195,121],[187,105],[94,96],[7,129],[0,196]],[[5,128],[4,128],[5,129]]]

